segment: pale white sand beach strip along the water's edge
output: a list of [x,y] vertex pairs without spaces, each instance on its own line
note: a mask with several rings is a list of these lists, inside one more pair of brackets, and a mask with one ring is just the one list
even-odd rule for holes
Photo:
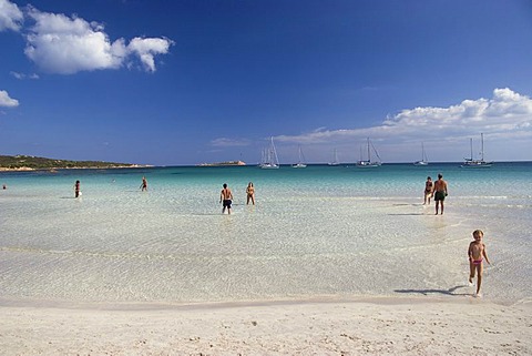
[[[147,307],[147,308],[146,308]],[[2,355],[531,355],[532,305],[461,298],[0,307]]]

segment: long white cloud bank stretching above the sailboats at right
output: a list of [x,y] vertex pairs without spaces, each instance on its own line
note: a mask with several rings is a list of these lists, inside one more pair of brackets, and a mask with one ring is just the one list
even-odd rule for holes
[[400,138],[408,141],[420,136],[469,136],[479,132],[505,133],[508,136],[522,130],[532,134],[532,100],[505,88],[495,89],[492,99],[464,100],[449,108],[406,109],[372,128],[320,129],[301,135],[280,135],[276,139],[295,143],[358,140],[366,136],[387,140]]

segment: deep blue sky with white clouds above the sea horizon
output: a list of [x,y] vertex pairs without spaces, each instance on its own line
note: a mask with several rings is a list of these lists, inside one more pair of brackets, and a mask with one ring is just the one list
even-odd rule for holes
[[0,154],[532,161],[528,0],[0,0]]

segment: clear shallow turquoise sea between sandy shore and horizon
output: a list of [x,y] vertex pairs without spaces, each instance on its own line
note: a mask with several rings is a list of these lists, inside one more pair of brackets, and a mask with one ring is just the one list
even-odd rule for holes
[[[438,173],[449,196],[444,215],[434,216],[422,192]],[[492,261],[484,298],[529,302],[531,173],[532,162],[4,172],[0,298],[469,298],[467,250],[481,228]],[[248,182],[255,206],[246,205]],[[235,196],[231,216],[218,202],[223,183]]]

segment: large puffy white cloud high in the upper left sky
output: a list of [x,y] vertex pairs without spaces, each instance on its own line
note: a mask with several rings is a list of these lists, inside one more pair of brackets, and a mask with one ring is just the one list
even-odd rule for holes
[[[1,1],[1,0],[0,0]],[[173,42],[165,38],[120,38],[111,42],[98,22],[30,8],[34,26],[27,35],[25,54],[43,71],[73,74],[80,71],[119,69],[136,57],[146,71],[154,72],[155,55],[168,52]]]

